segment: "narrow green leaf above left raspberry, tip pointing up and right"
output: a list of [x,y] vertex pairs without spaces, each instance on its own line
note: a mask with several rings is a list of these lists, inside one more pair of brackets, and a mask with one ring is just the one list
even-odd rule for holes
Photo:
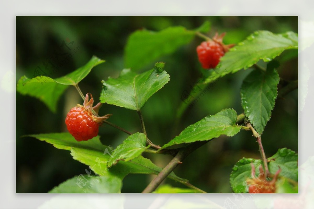
[[90,73],[93,67],[104,62],[105,60],[101,60],[98,57],[93,56],[92,59],[90,59],[89,62],[84,66],[78,68],[72,73],[55,79],[55,81],[59,84],[64,85],[76,85]]

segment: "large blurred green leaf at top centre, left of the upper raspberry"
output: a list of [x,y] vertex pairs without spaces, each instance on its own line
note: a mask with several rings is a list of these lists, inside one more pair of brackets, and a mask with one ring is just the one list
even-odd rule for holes
[[146,29],[132,33],[125,47],[125,67],[137,71],[161,56],[175,52],[179,47],[192,41],[197,31],[207,32],[209,22],[195,31],[182,26],[169,27],[159,32]]

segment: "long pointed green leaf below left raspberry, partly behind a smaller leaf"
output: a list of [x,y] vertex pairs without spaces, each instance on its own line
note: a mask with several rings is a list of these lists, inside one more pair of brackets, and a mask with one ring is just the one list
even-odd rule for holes
[[[112,167],[107,163],[112,153],[108,146],[102,145],[99,136],[88,141],[76,141],[69,133],[36,134],[29,135],[41,141],[46,141],[58,149],[70,150],[74,160],[90,167],[98,175],[110,175],[123,179],[130,173],[158,174],[162,168],[156,166],[152,161],[141,155],[130,161],[119,161]],[[89,171],[90,173],[90,171]],[[173,172],[168,178],[188,185],[188,180],[176,176]]]

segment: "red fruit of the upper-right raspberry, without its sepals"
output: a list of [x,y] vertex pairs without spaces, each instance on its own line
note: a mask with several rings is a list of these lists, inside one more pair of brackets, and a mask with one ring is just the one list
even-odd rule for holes
[[224,48],[214,41],[202,42],[196,48],[198,60],[202,63],[204,69],[215,68],[220,57],[224,56]]

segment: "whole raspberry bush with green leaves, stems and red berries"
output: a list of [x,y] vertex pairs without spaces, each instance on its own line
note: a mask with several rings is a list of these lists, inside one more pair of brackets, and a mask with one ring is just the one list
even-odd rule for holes
[[[194,30],[177,26],[159,32],[141,29],[130,34],[124,57],[127,69],[123,69],[118,77],[97,78],[95,82],[102,82],[102,88],[99,89],[100,103],[94,107],[93,97],[91,94],[84,96],[79,84],[84,82],[83,79],[95,66],[105,62],[96,56],[93,56],[86,65],[56,79],[47,76],[35,78],[23,76],[19,79],[17,91],[40,99],[51,111],[57,111],[57,101],[69,86],[77,90],[83,101],[83,105],[78,104],[67,110],[68,114],[63,120],[68,132],[30,135],[58,149],[70,151],[74,160],[89,166],[89,170],[94,172],[92,175],[91,171],[87,172],[87,175],[78,174],[59,186],[56,185],[51,193],[119,193],[122,180],[128,174],[156,175],[143,193],[206,193],[207,188],[192,185],[193,182],[181,178],[184,176],[176,176],[173,170],[181,166],[189,154],[197,152],[198,148],[212,139],[219,140],[221,136],[233,137],[240,131],[248,131],[253,135],[252,140],[257,142],[256,150],[260,150],[260,158],[254,159],[256,156],[241,158],[232,171],[230,170],[230,179],[217,181],[230,181],[232,191],[235,193],[298,192],[298,155],[293,150],[280,148],[277,153],[267,158],[262,144],[262,134],[267,131],[265,127],[271,120],[276,100],[298,87],[297,81],[279,84],[281,79],[277,70],[279,64],[287,60],[286,57],[279,59],[284,55],[283,52],[298,49],[298,34],[256,31],[239,43],[225,45],[223,43],[225,33],[221,35],[216,33],[213,38],[209,38],[207,35],[209,32],[213,34],[214,31],[210,31],[210,24],[205,22]],[[145,115],[142,110],[154,94],[158,94],[157,92],[168,82],[176,80],[176,76],[172,74],[170,80],[170,74],[165,71],[167,64],[162,62],[161,58],[170,56],[180,47],[190,44],[192,40],[198,45],[191,53],[195,54],[195,59],[199,59],[198,68],[202,72],[202,82],[195,82],[191,90],[182,94],[175,121],[179,121],[193,99],[201,95],[203,89],[208,88],[217,79],[226,75],[237,76],[236,72],[250,69],[238,91],[243,111],[237,113],[230,107],[214,115],[207,113],[203,115],[203,119],[187,126],[168,143],[159,145],[153,140],[155,136],[149,135],[146,131]],[[152,65],[155,60],[159,62]],[[218,64],[219,69],[216,68]],[[146,65],[150,65],[149,70],[140,72]],[[95,97],[95,93],[93,95]],[[171,102],[171,99],[160,101],[158,104],[167,102]],[[118,121],[125,120],[124,118],[114,120],[116,121],[114,124],[111,119],[116,116],[111,116],[110,112],[105,116],[99,116],[101,104],[136,111],[141,131],[129,131],[120,127]],[[160,118],[162,117],[168,115],[161,115]],[[173,125],[175,129],[176,124]],[[113,151],[111,151],[113,147],[106,145],[106,141],[100,142],[100,137],[106,139],[108,136],[98,135],[99,129],[106,129],[109,126],[129,135]],[[264,138],[263,142],[265,140],[268,139]],[[170,155],[172,160],[161,168],[155,165],[146,153]],[[187,188],[161,185],[166,178]],[[87,189],[86,184],[95,179],[98,186]]]

